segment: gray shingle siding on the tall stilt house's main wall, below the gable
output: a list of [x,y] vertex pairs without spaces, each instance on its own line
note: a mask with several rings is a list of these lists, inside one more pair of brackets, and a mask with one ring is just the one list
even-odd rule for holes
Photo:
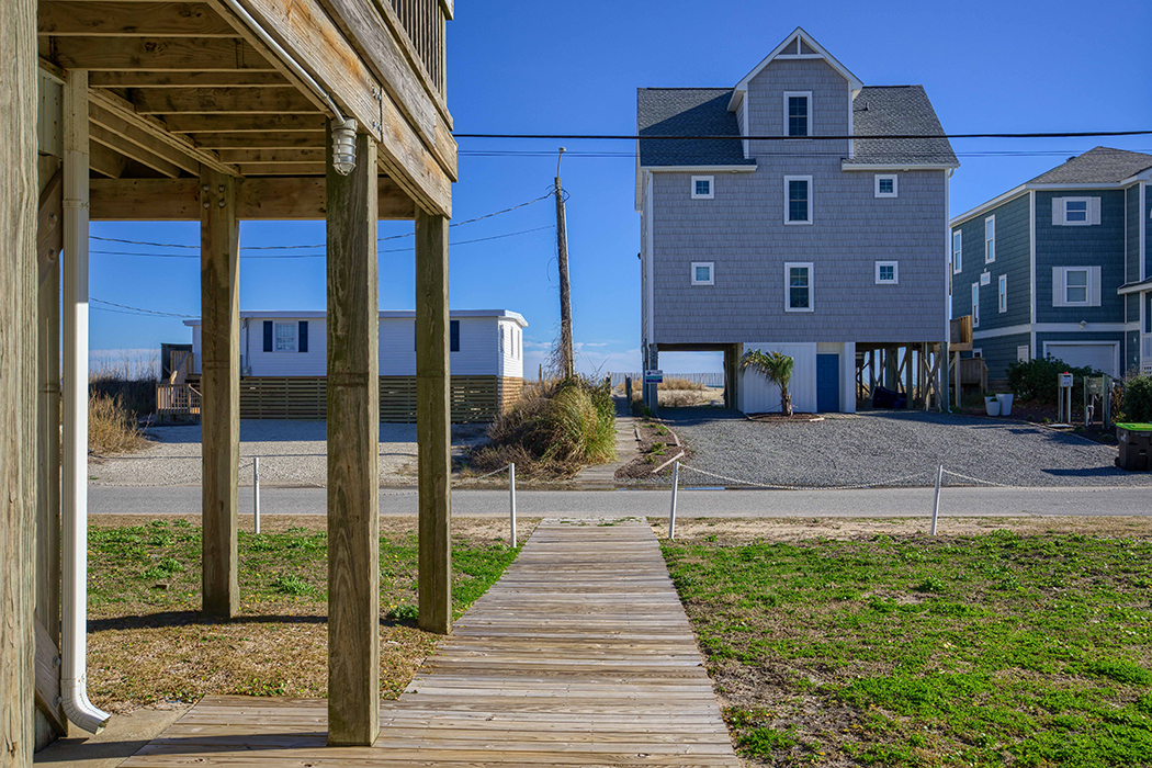
[[[653,341],[943,336],[943,172],[901,173],[900,197],[878,199],[873,174],[842,172],[839,158],[757,160],[753,173],[717,174],[711,200],[691,199],[689,173],[653,175]],[[813,177],[811,226],[783,223],[786,175]],[[878,260],[900,263],[899,286],[874,284]],[[715,286],[691,284],[692,261],[715,263]],[[786,261],[813,263],[813,312],[785,311]]]

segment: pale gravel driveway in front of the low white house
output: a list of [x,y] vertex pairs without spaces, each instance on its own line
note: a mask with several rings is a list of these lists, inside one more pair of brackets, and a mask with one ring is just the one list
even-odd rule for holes
[[[485,440],[486,425],[452,428],[453,454]],[[200,484],[200,427],[146,431],[154,442],[138,454],[89,459],[92,485],[191,486]],[[326,486],[327,424],[274,419],[240,423],[240,484],[252,484],[252,456],[260,457],[260,485]],[[416,425],[380,425],[380,484],[416,482]]]

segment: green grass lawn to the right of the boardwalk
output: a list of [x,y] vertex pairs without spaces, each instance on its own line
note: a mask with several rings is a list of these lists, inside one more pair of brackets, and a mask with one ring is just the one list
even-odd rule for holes
[[713,525],[664,553],[751,765],[1152,766],[1146,523],[790,541]]

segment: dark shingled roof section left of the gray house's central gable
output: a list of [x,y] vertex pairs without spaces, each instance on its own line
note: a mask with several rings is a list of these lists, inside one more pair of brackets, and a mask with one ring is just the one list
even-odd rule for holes
[[[730,88],[641,88],[636,127],[641,136],[740,136],[728,112]],[[661,139],[639,142],[642,166],[755,166],[741,142]]]

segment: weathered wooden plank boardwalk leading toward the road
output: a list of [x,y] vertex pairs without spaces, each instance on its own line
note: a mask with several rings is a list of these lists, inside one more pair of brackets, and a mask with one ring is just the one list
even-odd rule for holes
[[212,697],[126,768],[737,762],[651,530],[540,524],[440,641],[372,747],[325,746],[319,699]]

